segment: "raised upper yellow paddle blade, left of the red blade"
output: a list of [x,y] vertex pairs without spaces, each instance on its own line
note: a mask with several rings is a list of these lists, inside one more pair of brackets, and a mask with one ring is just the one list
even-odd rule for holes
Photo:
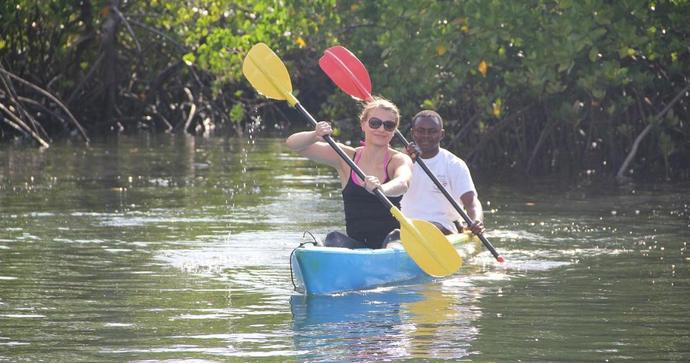
[[260,94],[286,100],[293,107],[297,103],[285,64],[266,44],[257,43],[249,50],[242,62],[242,73]]

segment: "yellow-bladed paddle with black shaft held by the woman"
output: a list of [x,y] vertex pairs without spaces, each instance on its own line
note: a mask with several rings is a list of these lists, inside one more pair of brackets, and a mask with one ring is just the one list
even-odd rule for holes
[[[285,64],[263,43],[258,43],[247,53],[242,64],[242,73],[249,83],[266,97],[285,100],[295,107],[312,126],[317,122],[292,95],[292,82]],[[364,172],[338,146],[330,135],[323,138],[335,152],[364,180]],[[462,259],[448,239],[433,224],[410,220],[391,203],[380,189],[374,194],[400,223],[400,240],[412,260],[427,274],[435,277],[447,276],[460,268]]]

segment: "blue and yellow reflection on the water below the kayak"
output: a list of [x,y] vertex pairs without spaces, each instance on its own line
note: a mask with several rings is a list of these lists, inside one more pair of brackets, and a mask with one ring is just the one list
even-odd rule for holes
[[470,354],[481,315],[470,285],[383,288],[290,298],[295,347],[307,361],[460,359]]

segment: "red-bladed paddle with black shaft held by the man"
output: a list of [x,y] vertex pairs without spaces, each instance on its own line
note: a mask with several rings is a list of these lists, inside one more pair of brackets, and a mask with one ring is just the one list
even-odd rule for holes
[[[321,59],[319,59],[319,66],[321,66],[321,69],[331,78],[333,83],[345,93],[360,100],[368,101],[372,99],[369,72],[367,72],[364,64],[362,64],[362,62],[347,48],[338,45],[326,49]],[[397,129],[395,130],[395,136],[397,136],[405,146],[410,144]],[[419,166],[422,167],[426,175],[431,178],[431,181],[434,182],[441,193],[443,193],[446,199],[448,199],[450,204],[453,205],[453,208],[460,213],[460,216],[467,222],[467,225],[471,225],[473,221],[470,220],[467,213],[465,213],[450,193],[448,193],[448,190],[443,187],[441,182],[439,182],[436,176],[429,170],[422,158],[419,157],[416,161]],[[502,263],[504,261],[503,256],[500,256],[498,252],[496,252],[491,242],[489,242],[483,234],[479,234],[478,237],[496,258],[496,261]]]

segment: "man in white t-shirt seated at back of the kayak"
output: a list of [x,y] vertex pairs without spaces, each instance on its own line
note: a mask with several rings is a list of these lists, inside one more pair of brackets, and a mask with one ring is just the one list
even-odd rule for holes
[[[475,234],[484,233],[484,213],[467,164],[450,151],[441,148],[444,136],[443,119],[435,111],[424,110],[412,118],[414,143],[407,148],[413,160],[421,157],[448,193],[464,206],[474,221],[468,228]],[[424,170],[415,163],[410,188],[401,202],[408,218],[427,220],[445,234],[458,232],[460,214],[446,199]]]

